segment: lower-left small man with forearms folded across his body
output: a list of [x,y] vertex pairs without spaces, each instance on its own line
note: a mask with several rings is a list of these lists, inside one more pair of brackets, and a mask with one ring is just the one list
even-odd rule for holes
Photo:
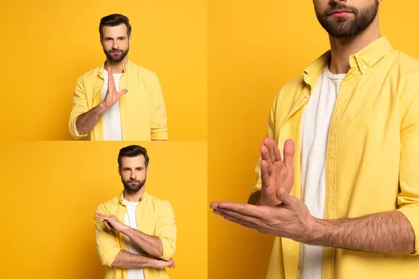
[[149,157],[138,145],[119,151],[124,190],[96,209],[96,248],[106,266],[105,279],[169,278],[174,268],[175,214],[166,200],[145,191]]

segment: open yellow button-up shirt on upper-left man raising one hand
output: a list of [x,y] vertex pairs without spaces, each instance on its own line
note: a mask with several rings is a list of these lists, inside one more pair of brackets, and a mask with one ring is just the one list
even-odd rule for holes
[[[103,66],[78,78],[68,122],[75,139],[88,135],[89,140],[103,140],[103,117],[84,135],[75,128],[80,114],[102,102]],[[157,75],[128,60],[119,78],[119,91],[122,89],[128,90],[119,98],[122,140],[168,140],[166,106]]]

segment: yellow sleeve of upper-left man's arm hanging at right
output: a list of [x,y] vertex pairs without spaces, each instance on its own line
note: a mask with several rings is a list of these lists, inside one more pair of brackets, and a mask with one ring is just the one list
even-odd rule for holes
[[161,93],[159,77],[154,75],[152,92],[150,93],[151,113],[152,113],[152,140],[168,140],[168,117],[166,115],[166,105]]

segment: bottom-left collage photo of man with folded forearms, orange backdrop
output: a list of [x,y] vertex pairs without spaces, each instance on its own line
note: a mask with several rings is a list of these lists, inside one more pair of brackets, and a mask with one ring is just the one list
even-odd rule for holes
[[205,142],[0,152],[2,278],[207,278]]

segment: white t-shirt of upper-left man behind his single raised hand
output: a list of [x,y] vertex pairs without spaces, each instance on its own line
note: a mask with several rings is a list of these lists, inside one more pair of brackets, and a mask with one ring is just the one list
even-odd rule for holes
[[[102,100],[105,99],[106,91],[108,91],[108,75],[108,71],[103,69],[105,83],[102,87]],[[119,78],[121,76],[122,74],[113,75],[117,91],[119,91]],[[103,114],[103,140],[122,140],[119,100]]]

